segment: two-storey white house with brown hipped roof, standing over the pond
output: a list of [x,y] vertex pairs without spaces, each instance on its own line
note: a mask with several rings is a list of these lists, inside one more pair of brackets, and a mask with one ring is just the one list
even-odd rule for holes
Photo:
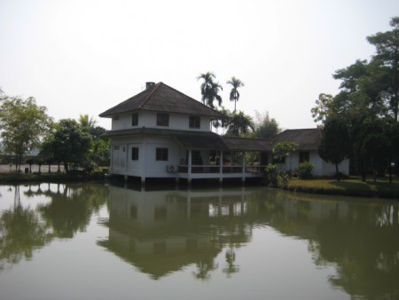
[[[165,83],[147,83],[145,91],[99,116],[112,118],[105,136],[112,140],[109,172],[141,178],[143,183],[145,178],[245,181],[261,178],[271,162],[272,139],[219,136],[211,123],[222,114]],[[285,132],[275,140],[284,140]],[[246,152],[260,153],[258,161],[247,163]],[[317,175],[323,175],[324,165],[317,168]]]

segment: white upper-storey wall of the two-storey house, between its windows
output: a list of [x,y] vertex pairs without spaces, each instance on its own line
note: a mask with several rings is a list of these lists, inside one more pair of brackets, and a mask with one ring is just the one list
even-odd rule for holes
[[157,126],[157,113],[140,111],[138,113],[138,125],[131,125],[131,115],[133,113],[120,114],[118,119],[113,118],[112,130],[127,130],[131,128],[167,128],[170,130],[195,130],[195,131],[210,131],[210,118],[207,116],[200,116],[200,129],[192,129],[189,127],[190,116],[187,114],[169,114],[169,126]]

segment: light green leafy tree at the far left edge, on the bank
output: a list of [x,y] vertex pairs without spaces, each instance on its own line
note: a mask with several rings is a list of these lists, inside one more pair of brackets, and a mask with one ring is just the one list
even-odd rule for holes
[[40,140],[51,124],[46,107],[36,105],[29,97],[9,97],[0,91],[0,128],[6,152],[17,155],[16,168],[20,170],[22,157],[40,146]]

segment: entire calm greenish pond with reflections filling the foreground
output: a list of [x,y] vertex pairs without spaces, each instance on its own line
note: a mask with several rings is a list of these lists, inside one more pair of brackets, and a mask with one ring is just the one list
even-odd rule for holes
[[1,299],[399,299],[399,202],[0,186]]

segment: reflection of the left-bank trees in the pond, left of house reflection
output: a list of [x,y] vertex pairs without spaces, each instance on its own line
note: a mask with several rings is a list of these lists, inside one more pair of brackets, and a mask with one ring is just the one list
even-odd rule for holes
[[[0,210],[0,270],[31,259],[35,249],[55,238],[73,238],[84,231],[93,212],[108,199],[107,188],[91,185],[9,186],[8,192],[12,190],[12,206]],[[46,201],[23,205],[21,195]]]

